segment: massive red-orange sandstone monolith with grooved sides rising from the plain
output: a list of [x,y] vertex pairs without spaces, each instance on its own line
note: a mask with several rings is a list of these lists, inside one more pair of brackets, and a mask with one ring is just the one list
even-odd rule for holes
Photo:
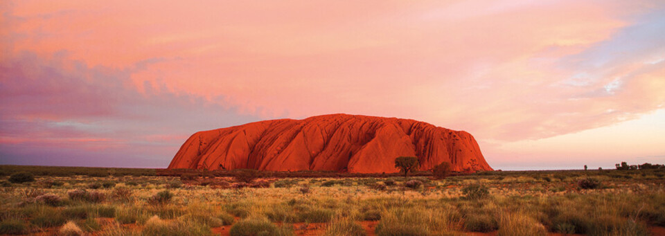
[[454,171],[492,170],[465,131],[425,122],[333,114],[304,120],[265,120],[199,131],[188,138],[169,169],[329,170],[398,172],[398,156],[416,156],[420,170],[443,161]]

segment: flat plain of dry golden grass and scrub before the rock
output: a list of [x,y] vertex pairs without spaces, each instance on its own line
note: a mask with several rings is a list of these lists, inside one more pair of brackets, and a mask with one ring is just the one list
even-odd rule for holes
[[22,174],[2,176],[0,234],[649,235],[665,227],[665,170],[650,167],[441,179],[413,176],[419,172],[286,179],[252,172],[247,180],[80,171],[99,174],[29,172],[33,181],[13,183],[12,174]]

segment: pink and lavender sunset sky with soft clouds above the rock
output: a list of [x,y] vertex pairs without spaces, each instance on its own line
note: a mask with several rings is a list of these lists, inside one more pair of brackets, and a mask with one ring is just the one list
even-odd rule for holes
[[495,169],[665,163],[663,1],[0,4],[0,164],[166,167],[334,113],[469,131]]

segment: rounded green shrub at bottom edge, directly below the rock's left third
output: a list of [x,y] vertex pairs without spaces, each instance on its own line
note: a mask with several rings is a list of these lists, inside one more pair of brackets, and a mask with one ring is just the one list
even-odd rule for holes
[[250,218],[239,221],[231,226],[231,236],[258,236],[258,235],[293,235],[290,228],[278,228],[264,218]]

